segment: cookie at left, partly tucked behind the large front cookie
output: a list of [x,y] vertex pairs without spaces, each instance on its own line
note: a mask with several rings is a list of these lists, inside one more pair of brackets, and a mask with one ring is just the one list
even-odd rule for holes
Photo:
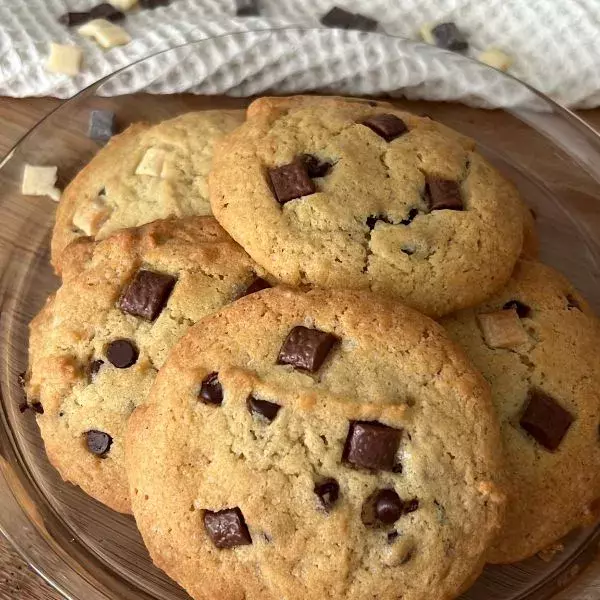
[[31,324],[26,392],[43,407],[37,421],[63,479],[127,512],[123,431],[169,349],[257,280],[268,284],[212,217],[156,221],[73,250]]

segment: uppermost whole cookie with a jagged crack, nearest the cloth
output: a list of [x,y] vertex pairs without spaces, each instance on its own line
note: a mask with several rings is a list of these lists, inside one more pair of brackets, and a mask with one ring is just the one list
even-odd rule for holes
[[370,288],[431,316],[508,280],[523,206],[473,140],[368,102],[258,102],[216,146],[210,199],[275,277]]

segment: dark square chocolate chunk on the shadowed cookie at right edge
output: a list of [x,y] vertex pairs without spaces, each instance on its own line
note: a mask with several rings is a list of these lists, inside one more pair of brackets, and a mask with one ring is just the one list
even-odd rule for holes
[[531,390],[519,421],[521,427],[547,450],[556,450],[574,418],[554,398]]

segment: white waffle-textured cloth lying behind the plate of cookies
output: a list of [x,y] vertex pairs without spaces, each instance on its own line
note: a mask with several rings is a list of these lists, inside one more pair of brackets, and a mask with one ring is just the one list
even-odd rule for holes
[[[58,22],[67,10],[100,0],[0,0],[0,94],[69,97],[94,81],[157,51],[247,30],[319,26],[331,0],[259,0],[260,17],[236,17],[234,0],[173,0],[131,11],[121,23],[133,40],[105,51]],[[510,54],[510,73],[576,107],[600,104],[600,3],[597,0],[337,0],[380,21],[379,32],[418,39],[423,23],[453,20],[476,56],[493,46]],[[84,49],[76,77],[48,73],[49,42]],[[514,105],[528,92],[500,74],[379,33],[278,31],[224,37],[180,49],[128,70],[107,94],[146,90],[242,95],[265,90],[335,89],[469,104]]]

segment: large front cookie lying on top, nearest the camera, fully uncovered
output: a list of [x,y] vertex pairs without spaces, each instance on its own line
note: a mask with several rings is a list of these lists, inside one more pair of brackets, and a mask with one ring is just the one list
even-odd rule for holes
[[497,531],[500,444],[436,323],[367,292],[272,289],[173,348],[126,462],[150,554],[193,598],[441,600]]

